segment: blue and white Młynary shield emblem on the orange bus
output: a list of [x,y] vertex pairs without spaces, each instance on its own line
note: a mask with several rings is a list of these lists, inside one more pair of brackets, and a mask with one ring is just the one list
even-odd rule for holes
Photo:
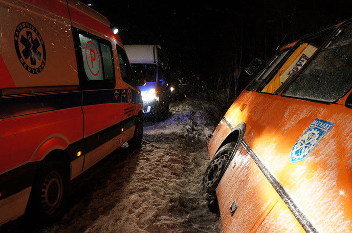
[[290,152],[290,163],[300,162],[312,151],[334,124],[315,119],[303,132]]

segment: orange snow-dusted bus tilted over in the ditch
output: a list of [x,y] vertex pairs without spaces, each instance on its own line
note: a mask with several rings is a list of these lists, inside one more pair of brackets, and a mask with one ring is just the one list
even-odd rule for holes
[[208,144],[223,231],[352,232],[351,108],[352,20],[282,46]]

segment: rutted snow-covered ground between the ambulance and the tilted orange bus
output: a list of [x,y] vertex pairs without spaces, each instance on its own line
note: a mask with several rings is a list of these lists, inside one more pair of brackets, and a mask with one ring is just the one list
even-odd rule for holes
[[[119,148],[77,179],[61,220],[30,232],[222,232],[201,182],[209,163],[207,136],[221,116],[193,98],[174,103],[170,111],[165,121],[145,122],[140,150]],[[28,232],[21,219],[16,221],[20,224],[4,230]]]

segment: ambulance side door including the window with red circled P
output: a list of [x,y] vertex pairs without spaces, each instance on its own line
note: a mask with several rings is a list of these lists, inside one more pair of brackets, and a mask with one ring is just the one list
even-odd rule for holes
[[122,144],[120,90],[110,41],[74,29],[84,113],[84,170]]

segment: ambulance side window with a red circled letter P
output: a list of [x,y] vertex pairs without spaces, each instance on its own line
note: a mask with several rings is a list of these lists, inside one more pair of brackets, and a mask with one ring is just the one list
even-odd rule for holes
[[115,87],[111,43],[80,29],[74,30],[80,84],[83,89]]

